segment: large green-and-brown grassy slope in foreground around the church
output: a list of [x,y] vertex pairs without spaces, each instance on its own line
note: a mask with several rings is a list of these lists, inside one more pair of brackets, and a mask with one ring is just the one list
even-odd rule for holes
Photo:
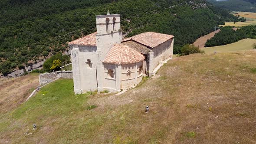
[[255,143],[255,57],[182,56],[118,96],[73,95],[72,80],[58,80],[0,116],[0,143]]

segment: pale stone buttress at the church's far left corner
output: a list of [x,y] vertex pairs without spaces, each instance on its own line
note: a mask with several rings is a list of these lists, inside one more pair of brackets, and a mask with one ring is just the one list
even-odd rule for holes
[[79,69],[79,47],[73,46],[71,50],[71,58],[72,58],[72,71],[73,71],[73,80],[74,80],[74,92],[75,94],[81,94],[81,77],[80,77],[80,69]]

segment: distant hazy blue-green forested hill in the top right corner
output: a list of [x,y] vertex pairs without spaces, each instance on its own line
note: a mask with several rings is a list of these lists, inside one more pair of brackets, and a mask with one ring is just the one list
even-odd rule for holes
[[207,0],[216,7],[230,11],[256,12],[256,0]]

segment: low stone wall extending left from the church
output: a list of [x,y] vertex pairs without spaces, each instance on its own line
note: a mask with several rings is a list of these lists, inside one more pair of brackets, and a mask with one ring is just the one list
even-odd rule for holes
[[73,73],[72,73],[72,71],[58,71],[58,72],[40,74],[39,75],[39,84],[40,84],[40,86],[46,85],[46,84],[53,82],[59,78],[73,79]]

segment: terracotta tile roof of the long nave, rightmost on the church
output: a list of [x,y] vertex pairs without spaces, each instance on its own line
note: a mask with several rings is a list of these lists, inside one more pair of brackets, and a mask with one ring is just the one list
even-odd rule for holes
[[135,42],[154,48],[172,38],[174,38],[174,36],[172,35],[148,32],[129,37],[127,39],[122,40],[122,42],[134,40]]

